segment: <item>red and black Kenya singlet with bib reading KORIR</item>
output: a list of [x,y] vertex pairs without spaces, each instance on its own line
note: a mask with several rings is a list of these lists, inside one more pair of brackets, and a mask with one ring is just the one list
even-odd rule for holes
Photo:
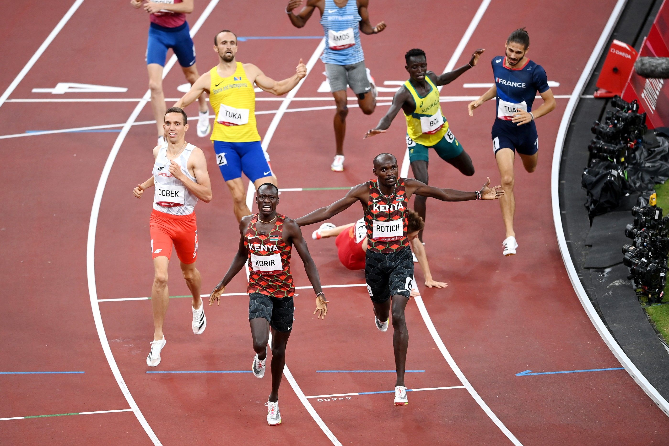
[[249,285],[247,293],[261,293],[274,297],[290,297],[295,292],[290,274],[290,250],[284,242],[286,216],[276,214],[274,228],[260,235],[256,229],[255,214],[244,234],[244,246],[249,250]]

